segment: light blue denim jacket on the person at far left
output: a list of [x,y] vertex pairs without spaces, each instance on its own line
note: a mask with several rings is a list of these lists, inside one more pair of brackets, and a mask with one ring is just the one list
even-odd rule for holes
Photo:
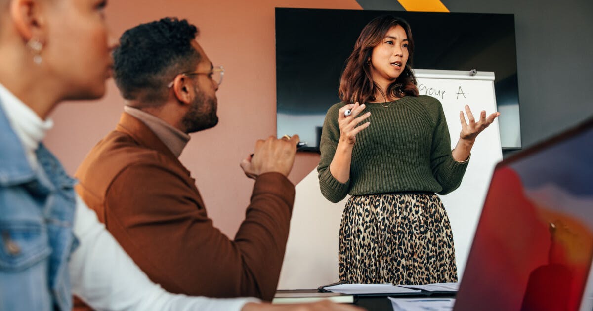
[[75,179],[43,144],[31,168],[0,105],[0,310],[71,310]]

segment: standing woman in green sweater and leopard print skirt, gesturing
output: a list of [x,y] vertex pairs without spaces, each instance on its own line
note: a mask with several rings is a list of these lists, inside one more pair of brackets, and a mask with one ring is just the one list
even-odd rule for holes
[[[362,30],[326,114],[317,168],[321,192],[346,203],[339,277],[349,283],[457,281],[451,225],[441,200],[461,183],[476,136],[499,113],[482,111],[451,150],[441,102],[419,96],[409,24],[377,17]],[[361,103],[361,104],[359,104]]]

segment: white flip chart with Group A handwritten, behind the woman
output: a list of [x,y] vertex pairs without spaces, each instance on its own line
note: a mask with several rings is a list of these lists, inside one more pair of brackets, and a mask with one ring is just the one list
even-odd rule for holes
[[[464,105],[470,106],[476,118],[479,118],[482,110],[486,110],[486,116],[497,111],[493,72],[477,72],[476,75],[471,75],[468,71],[460,70],[416,69],[415,74],[420,95],[435,97],[443,105],[451,134],[451,148],[455,147],[459,139],[459,111],[465,111]],[[501,160],[500,131],[498,120],[495,120],[477,137],[471,149],[470,163],[459,188],[447,195],[439,195],[451,221],[460,280],[490,185],[490,177],[496,163]]]

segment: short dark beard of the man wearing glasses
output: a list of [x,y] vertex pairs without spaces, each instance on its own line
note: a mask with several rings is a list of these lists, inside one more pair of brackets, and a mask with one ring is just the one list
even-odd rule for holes
[[216,97],[206,98],[199,89],[194,88],[196,98],[181,120],[186,133],[210,129],[218,124],[216,116]]

